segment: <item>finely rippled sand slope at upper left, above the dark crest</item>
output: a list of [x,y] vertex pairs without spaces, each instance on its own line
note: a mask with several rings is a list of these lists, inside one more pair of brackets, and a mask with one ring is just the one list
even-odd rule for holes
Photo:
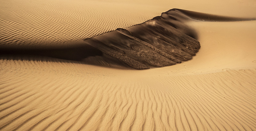
[[116,6],[116,3],[94,1],[1,0],[0,3],[2,46],[63,44],[118,27],[127,28],[156,15],[138,14],[136,7],[134,12],[125,14],[125,10],[132,9],[126,9],[125,5]]

